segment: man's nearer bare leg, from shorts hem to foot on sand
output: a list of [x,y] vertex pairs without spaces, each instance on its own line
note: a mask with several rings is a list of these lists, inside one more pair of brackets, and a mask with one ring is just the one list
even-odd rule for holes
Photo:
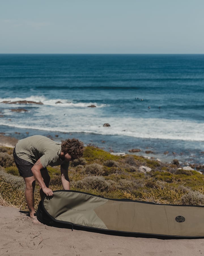
[[35,178],[32,177],[27,177],[24,178],[25,181],[25,200],[27,203],[27,207],[30,212],[30,217],[33,223],[40,223],[37,220],[37,217],[34,216],[35,213],[35,208],[34,208],[34,189],[35,189]]

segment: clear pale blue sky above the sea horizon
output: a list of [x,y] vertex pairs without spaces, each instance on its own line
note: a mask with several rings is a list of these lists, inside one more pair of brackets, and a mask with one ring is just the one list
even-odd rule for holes
[[204,54],[204,0],[0,0],[0,53]]

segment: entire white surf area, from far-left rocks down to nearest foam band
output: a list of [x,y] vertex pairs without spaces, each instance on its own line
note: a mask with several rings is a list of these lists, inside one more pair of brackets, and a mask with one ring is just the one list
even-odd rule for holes
[[[10,111],[10,108],[16,107],[16,104],[11,104],[8,107],[2,103],[4,117],[1,117],[1,125],[45,131],[204,141],[204,123],[201,122],[164,118],[122,118],[116,117],[114,114],[107,116],[110,113],[105,113],[102,108],[106,106],[105,104],[77,103],[69,100],[47,99],[44,96],[0,98],[0,102],[5,100],[28,100],[42,102],[44,105],[33,104],[32,106],[36,106],[36,108],[29,110],[29,112],[16,113]],[[58,101],[62,103],[56,104]],[[87,108],[92,104],[96,108]],[[103,127],[104,123],[109,123],[111,126]]]

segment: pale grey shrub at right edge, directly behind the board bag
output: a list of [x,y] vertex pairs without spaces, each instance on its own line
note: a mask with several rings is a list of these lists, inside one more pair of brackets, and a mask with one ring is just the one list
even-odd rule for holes
[[204,195],[199,191],[189,191],[181,197],[183,205],[204,205]]

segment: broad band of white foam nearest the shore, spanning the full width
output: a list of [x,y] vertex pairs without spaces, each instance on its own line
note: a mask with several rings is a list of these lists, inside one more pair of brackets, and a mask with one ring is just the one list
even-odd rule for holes
[[[36,114],[37,116],[37,114]],[[133,118],[97,118],[96,116],[65,115],[62,118],[54,115],[53,119],[1,119],[2,125],[59,132],[84,132],[102,135],[126,135],[138,138],[204,141],[204,124],[190,121],[169,119],[133,119]],[[23,121],[24,120],[24,121]],[[103,127],[109,123],[110,127]]]

